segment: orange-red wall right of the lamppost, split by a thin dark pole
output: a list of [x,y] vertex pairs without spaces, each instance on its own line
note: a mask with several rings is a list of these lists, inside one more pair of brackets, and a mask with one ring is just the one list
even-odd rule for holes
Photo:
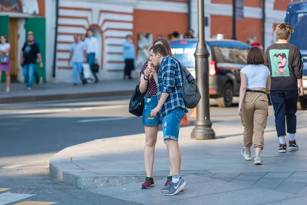
[[[211,15],[211,36],[222,33],[225,39],[232,38],[232,16]],[[238,40],[247,43],[247,38],[252,35],[258,36],[262,42],[262,21],[255,18],[244,18],[236,20],[236,37]]]

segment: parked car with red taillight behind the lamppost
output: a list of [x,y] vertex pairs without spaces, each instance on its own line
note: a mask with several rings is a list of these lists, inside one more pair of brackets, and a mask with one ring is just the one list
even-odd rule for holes
[[[195,77],[194,52],[198,39],[171,40],[169,45],[176,59]],[[209,94],[219,107],[231,107],[234,96],[239,96],[240,69],[247,65],[251,46],[229,39],[206,39],[209,56]]]

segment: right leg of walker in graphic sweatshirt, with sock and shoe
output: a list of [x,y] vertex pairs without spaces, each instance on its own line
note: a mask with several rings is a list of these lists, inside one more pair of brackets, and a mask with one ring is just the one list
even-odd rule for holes
[[298,92],[296,90],[284,91],[286,96],[286,118],[287,118],[287,132],[289,133],[289,150],[297,150],[298,145],[295,140],[296,133],[296,112]]

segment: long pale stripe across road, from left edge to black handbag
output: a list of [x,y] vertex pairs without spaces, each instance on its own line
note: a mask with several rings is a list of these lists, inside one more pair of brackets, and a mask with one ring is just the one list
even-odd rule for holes
[[43,113],[59,113],[59,112],[73,112],[73,111],[89,111],[89,110],[104,110],[113,108],[125,108],[128,105],[115,106],[98,106],[98,107],[83,107],[83,108],[62,108],[62,109],[45,109],[45,110],[26,110],[10,113],[0,113],[0,115],[20,115],[20,114],[43,114]]

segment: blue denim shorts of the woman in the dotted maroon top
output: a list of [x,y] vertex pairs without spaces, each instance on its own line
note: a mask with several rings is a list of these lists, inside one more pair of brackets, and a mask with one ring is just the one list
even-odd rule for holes
[[158,105],[157,95],[145,95],[144,109],[143,109],[143,126],[156,126],[160,124],[159,115],[157,117],[150,117],[151,110],[155,109]]

